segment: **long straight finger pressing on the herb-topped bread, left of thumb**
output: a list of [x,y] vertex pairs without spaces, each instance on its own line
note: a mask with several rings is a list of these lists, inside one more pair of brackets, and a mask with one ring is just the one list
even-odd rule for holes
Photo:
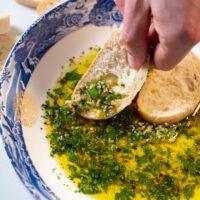
[[140,67],[146,61],[150,19],[148,1],[126,0],[122,38],[131,67]]

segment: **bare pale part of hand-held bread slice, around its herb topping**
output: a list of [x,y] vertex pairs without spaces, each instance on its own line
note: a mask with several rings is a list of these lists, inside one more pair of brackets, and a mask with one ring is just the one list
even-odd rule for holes
[[139,70],[129,67],[126,51],[121,41],[120,31],[115,31],[105,43],[103,49],[99,52],[86,74],[78,82],[72,94],[72,99],[80,102],[82,100],[81,88],[84,88],[85,85],[92,81],[105,80],[110,83],[114,81],[115,85],[112,90],[122,97],[112,102],[112,105],[115,106],[115,112],[106,116],[102,115],[100,110],[91,108],[80,113],[88,119],[107,119],[131,104],[145,82],[146,77],[146,67]]

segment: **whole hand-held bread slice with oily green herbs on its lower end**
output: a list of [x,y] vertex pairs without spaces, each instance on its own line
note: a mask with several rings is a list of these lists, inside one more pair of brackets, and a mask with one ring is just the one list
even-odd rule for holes
[[120,31],[115,31],[78,82],[72,99],[83,117],[107,119],[131,104],[146,77],[146,67],[129,67]]

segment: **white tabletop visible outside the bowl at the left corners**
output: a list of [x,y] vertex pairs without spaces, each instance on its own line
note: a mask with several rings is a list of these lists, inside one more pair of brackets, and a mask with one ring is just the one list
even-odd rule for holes
[[[0,0],[0,16],[10,15],[13,34],[22,34],[38,17],[34,9],[15,0]],[[0,200],[33,200],[15,173],[0,136]]]

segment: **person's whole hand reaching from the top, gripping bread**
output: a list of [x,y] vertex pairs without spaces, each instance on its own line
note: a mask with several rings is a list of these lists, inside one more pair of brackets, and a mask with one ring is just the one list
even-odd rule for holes
[[169,70],[200,41],[200,0],[115,1],[131,67],[144,64],[151,50],[155,68]]

